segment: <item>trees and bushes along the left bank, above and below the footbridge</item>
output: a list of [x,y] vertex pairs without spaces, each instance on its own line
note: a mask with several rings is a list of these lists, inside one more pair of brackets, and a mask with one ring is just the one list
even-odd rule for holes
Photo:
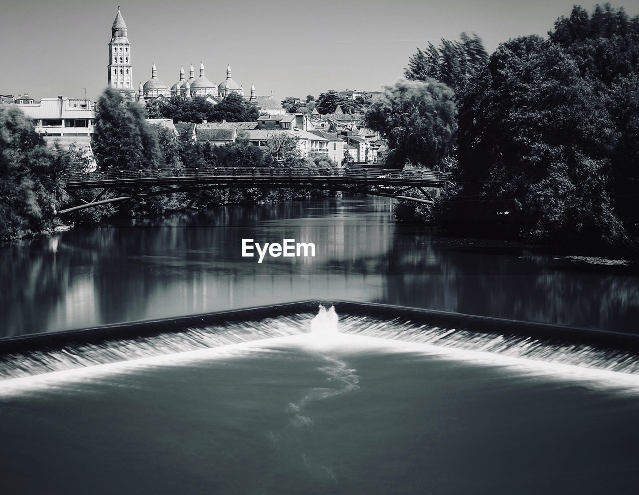
[[[268,141],[258,148],[242,138],[225,146],[174,136],[165,127],[150,125],[137,104],[123,106],[117,91],[107,89],[98,102],[93,150],[98,171],[153,168],[284,167],[330,168],[325,155],[302,157],[294,139]],[[52,230],[57,210],[81,203],[65,191],[67,173],[89,170],[88,154],[72,146],[47,148],[33,122],[17,108],[0,109],[0,239],[20,239]],[[101,191],[82,191],[92,198]],[[94,224],[112,216],[142,217],[185,208],[254,202],[273,203],[295,198],[325,197],[332,193],[311,189],[210,189],[157,195],[157,188],[113,189],[102,200],[135,196],[134,200],[65,214],[65,223]]]

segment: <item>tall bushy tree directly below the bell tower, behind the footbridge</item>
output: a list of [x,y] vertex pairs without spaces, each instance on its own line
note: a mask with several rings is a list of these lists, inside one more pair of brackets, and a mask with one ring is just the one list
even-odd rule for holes
[[98,100],[93,153],[100,170],[154,168],[160,150],[157,135],[138,104],[122,105],[118,91],[107,88]]

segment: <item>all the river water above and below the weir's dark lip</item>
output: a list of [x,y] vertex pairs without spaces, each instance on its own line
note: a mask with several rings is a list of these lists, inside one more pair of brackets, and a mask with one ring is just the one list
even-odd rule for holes
[[[242,257],[243,238],[314,242],[316,256],[258,263]],[[233,205],[1,249],[3,336],[310,298],[637,333],[631,266],[438,237],[398,226],[381,198]],[[584,360],[597,349],[570,343],[535,350],[494,334],[333,317],[4,357],[3,486],[78,495],[636,491],[635,357],[618,372],[615,355]]]

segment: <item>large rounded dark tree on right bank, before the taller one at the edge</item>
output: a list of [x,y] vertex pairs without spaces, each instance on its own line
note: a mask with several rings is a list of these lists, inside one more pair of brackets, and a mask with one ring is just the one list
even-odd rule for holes
[[623,240],[608,186],[619,134],[607,107],[561,47],[539,36],[502,43],[461,98],[458,197],[483,199],[466,203],[465,218],[490,223],[509,210],[509,228],[532,239]]

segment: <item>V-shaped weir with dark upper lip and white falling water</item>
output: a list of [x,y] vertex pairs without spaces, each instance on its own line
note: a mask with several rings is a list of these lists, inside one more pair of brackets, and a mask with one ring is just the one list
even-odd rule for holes
[[338,328],[346,334],[639,375],[639,336],[634,334],[385,304],[301,301],[3,339],[0,383],[311,331],[321,338]]

